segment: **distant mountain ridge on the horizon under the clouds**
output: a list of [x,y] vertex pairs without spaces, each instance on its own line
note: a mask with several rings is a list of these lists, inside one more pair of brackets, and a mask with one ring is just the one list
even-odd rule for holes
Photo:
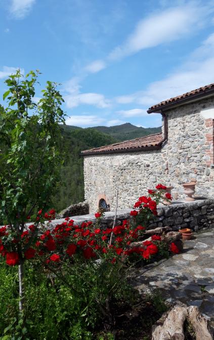
[[[82,129],[78,128],[77,126],[66,125],[64,126],[65,130],[77,130]],[[110,135],[118,142],[126,141],[129,139],[135,139],[139,137],[144,137],[152,134],[157,134],[161,132],[161,126],[158,128],[142,128],[135,126],[131,123],[124,123],[121,125],[115,126],[93,126],[93,128],[85,128],[86,129],[94,129],[104,134]]]

